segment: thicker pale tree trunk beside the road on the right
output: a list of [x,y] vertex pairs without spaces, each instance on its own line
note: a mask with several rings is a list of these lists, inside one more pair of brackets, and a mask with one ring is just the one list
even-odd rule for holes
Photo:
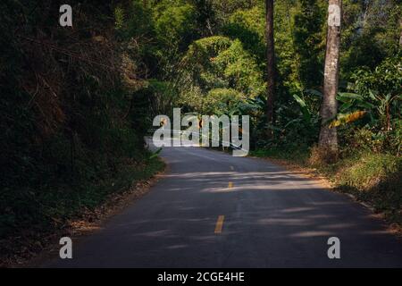
[[323,98],[320,115],[322,125],[319,147],[323,151],[322,159],[333,161],[338,157],[338,137],[336,128],[330,128],[329,122],[337,115],[337,93],[339,78],[339,44],[341,0],[330,0],[328,8],[328,33],[325,54]]

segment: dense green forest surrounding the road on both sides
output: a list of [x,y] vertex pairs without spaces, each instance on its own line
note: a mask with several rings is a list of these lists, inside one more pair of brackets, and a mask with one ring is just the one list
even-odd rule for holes
[[174,107],[249,115],[250,156],[400,226],[402,4],[330,2],[340,27],[326,0],[74,0],[72,27],[61,1],[1,1],[0,260],[162,172],[144,137]]

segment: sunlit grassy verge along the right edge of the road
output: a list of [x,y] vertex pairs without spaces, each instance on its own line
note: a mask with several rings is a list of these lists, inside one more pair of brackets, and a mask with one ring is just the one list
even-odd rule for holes
[[334,164],[311,164],[308,148],[255,150],[251,156],[285,160],[314,170],[335,189],[353,194],[384,214],[389,223],[402,225],[402,158],[369,151],[343,155]]

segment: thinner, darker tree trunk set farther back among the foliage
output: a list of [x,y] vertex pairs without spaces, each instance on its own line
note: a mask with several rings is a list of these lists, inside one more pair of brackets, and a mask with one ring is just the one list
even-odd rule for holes
[[[273,105],[275,92],[275,50],[273,43],[273,0],[266,0],[266,76],[267,76],[267,123],[273,125]],[[268,132],[272,135],[272,130]]]

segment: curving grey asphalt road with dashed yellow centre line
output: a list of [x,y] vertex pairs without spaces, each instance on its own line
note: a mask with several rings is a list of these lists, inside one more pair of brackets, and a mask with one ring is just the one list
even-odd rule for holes
[[[402,242],[350,198],[264,160],[166,147],[168,172],[52,267],[401,267]],[[340,240],[340,259],[327,241]]]

